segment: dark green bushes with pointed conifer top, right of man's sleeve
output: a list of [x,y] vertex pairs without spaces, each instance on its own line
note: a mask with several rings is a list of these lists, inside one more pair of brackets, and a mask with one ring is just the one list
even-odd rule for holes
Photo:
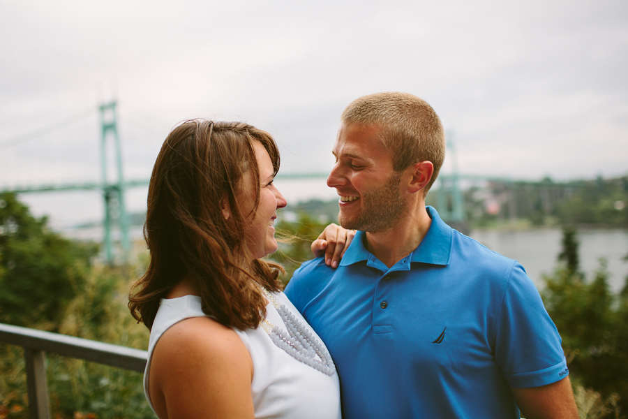
[[611,293],[604,259],[586,281],[574,252],[575,231],[566,229],[561,256],[567,263],[544,277],[541,295],[560,331],[571,376],[601,397],[619,397],[618,406],[628,411],[628,297]]

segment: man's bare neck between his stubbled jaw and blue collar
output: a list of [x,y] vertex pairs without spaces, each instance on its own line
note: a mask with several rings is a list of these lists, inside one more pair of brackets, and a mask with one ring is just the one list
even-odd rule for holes
[[406,214],[396,226],[378,233],[366,232],[364,245],[387,267],[392,267],[417,249],[427,234],[431,222],[432,219],[425,205],[417,206],[416,210]]

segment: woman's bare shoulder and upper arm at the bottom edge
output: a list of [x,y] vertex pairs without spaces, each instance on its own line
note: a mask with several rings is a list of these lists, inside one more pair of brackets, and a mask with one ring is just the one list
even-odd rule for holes
[[188,318],[159,339],[149,392],[160,419],[253,419],[253,361],[232,329]]

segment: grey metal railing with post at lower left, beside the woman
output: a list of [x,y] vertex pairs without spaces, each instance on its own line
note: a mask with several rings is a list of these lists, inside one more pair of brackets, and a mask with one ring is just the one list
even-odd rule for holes
[[148,355],[140,349],[3,323],[0,323],[0,343],[24,348],[31,419],[50,419],[45,368],[47,352],[136,372],[144,372]]

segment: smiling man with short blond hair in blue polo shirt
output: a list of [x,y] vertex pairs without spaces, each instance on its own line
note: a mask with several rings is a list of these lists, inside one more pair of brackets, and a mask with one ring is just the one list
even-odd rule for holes
[[359,231],[336,270],[311,260],[285,290],[336,362],[343,418],[577,418],[560,336],[523,267],[425,206],[444,148],[416,96],[343,112],[327,185],[341,226]]

